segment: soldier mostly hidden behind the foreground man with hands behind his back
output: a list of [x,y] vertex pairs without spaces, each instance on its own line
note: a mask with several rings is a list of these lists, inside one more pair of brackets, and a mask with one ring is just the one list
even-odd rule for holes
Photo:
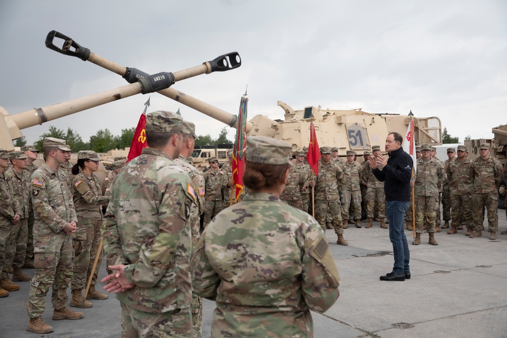
[[[187,162],[187,158],[194,152],[195,140],[195,125],[192,122],[183,121],[183,148],[179,153],[179,157],[174,159],[174,163],[182,168],[192,180],[192,186],[196,195],[196,203],[192,204],[190,209],[190,224],[192,228],[192,250],[197,245],[200,235],[201,227],[201,213],[204,211],[204,177],[193,165]],[[202,298],[195,292],[192,292],[192,324],[194,338],[201,337],[202,327]]]

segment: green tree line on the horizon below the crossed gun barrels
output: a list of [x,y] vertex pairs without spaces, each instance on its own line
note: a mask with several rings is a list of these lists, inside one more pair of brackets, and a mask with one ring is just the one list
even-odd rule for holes
[[[88,142],[83,141],[82,137],[72,128],[67,128],[67,132],[63,129],[58,129],[55,126],[50,126],[47,133],[42,134],[34,145],[37,149],[42,149],[42,142],[46,137],[55,137],[64,139],[72,149],[73,153],[82,150],[92,150],[96,153],[107,153],[112,149],[124,149],[130,147],[132,138],[134,137],[135,128],[122,129],[120,135],[113,135],[109,129],[100,129],[95,135],[90,137]],[[224,127],[219,134],[219,137],[214,139],[211,135],[198,135],[195,141],[196,145],[205,144],[223,144],[232,143],[227,139],[227,127]],[[15,146],[22,147],[26,145],[25,137],[18,138]]]

